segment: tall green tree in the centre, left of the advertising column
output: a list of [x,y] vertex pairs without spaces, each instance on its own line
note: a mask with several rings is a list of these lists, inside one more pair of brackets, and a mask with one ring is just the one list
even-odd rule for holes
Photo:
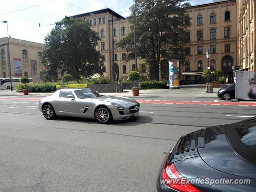
[[[184,44],[188,42],[185,26],[184,0],[136,0],[130,7],[132,14],[129,21],[133,22],[136,15],[137,53],[145,58],[150,78],[159,80],[159,65],[162,60],[178,59],[180,64],[185,61]],[[126,48],[127,59],[134,58],[134,25],[132,32],[123,38],[118,46]]]

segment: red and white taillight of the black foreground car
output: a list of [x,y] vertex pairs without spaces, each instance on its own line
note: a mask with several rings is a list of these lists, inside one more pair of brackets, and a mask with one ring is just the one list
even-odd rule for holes
[[188,180],[178,172],[173,163],[164,168],[162,178],[167,186],[180,192],[203,192],[196,186],[190,184]]

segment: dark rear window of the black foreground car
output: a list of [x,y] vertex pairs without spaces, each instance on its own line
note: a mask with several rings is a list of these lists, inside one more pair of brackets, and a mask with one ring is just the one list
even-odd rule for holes
[[234,124],[236,134],[246,145],[256,145],[256,119]]

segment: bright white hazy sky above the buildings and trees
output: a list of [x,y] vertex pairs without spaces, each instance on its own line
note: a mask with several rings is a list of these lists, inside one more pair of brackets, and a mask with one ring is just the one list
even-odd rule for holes
[[[211,0],[189,0],[191,5]],[[110,8],[127,17],[133,0],[0,0],[0,21],[8,22],[12,38],[44,43],[54,23],[64,16]],[[39,26],[40,24],[40,26]],[[0,22],[0,38],[7,37],[6,23]]]

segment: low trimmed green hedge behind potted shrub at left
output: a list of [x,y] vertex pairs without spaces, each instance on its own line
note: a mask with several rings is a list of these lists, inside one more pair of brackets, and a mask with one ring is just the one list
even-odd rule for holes
[[[57,83],[28,83],[26,87],[29,89],[29,92],[55,92]],[[25,89],[25,84],[16,84],[16,91],[22,92]]]

